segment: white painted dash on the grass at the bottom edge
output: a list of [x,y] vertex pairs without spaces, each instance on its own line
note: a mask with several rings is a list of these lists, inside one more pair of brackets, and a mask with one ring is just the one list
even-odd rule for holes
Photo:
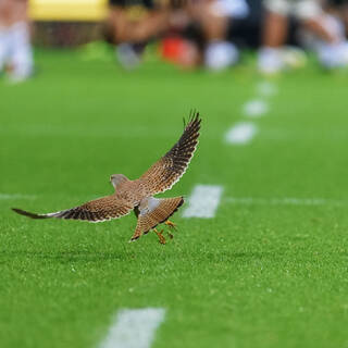
[[119,311],[115,323],[110,327],[100,348],[150,348],[164,315],[163,308]]

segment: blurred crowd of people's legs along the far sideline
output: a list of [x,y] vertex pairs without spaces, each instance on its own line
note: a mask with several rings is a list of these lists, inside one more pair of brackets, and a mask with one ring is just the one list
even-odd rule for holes
[[[0,71],[13,80],[34,69],[27,13],[26,0],[0,0]],[[221,71],[257,49],[263,74],[300,66],[304,50],[326,69],[348,66],[347,34],[348,0],[110,0],[102,29],[126,69],[159,40],[161,57],[186,69]]]

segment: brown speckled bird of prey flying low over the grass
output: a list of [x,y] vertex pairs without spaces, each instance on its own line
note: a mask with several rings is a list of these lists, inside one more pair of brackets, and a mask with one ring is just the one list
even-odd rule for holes
[[[91,200],[82,206],[53,213],[36,214],[22,209],[12,208],[18,214],[32,219],[73,219],[89,222],[102,222],[119,219],[132,211],[137,216],[137,226],[129,241],[138,239],[142,234],[154,231],[160,243],[165,244],[162,231],[156,229],[157,225],[165,223],[175,228],[169,221],[177,209],[184,203],[184,198],[154,198],[177,183],[194,156],[197,148],[201,119],[198,112],[191,112],[184,133],[178,141],[145,174],[135,181],[128,179],[123,174],[113,174],[110,182],[115,188],[111,196]],[[170,234],[172,237],[172,235]]]

